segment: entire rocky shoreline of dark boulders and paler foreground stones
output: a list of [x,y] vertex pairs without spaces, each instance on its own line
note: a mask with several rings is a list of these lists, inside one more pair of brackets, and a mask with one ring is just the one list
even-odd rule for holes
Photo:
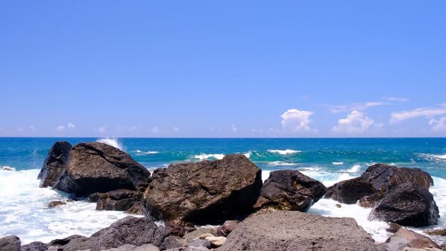
[[[0,250],[446,250],[401,226],[436,225],[431,176],[417,168],[371,165],[357,178],[326,188],[295,170],[270,173],[245,155],[169,165],[153,173],[127,153],[99,142],[56,142],[38,176],[98,210],[126,217],[92,236],[21,245],[0,238]],[[322,197],[372,208],[369,220],[392,222],[374,243],[353,218],[305,213]],[[58,206],[55,201],[53,206]],[[156,225],[163,220],[164,225]],[[197,227],[206,224],[220,227]],[[443,234],[438,231],[430,234]]]

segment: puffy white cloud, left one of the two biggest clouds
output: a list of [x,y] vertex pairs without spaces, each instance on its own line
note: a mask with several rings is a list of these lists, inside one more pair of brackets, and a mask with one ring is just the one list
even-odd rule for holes
[[281,115],[282,127],[284,130],[291,130],[293,132],[311,131],[309,123],[312,122],[310,116],[313,112],[300,111],[298,109],[289,109]]

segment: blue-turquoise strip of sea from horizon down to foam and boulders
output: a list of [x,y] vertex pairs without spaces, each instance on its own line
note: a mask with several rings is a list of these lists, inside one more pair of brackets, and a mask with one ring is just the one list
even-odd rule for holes
[[[39,169],[47,151],[58,140],[77,144],[97,138],[0,137],[0,168]],[[263,170],[317,167],[325,172],[338,172],[360,165],[363,171],[372,163],[386,162],[400,167],[420,167],[433,176],[446,178],[446,138],[119,138],[109,142],[118,143],[135,160],[151,169],[172,162],[243,153]]]

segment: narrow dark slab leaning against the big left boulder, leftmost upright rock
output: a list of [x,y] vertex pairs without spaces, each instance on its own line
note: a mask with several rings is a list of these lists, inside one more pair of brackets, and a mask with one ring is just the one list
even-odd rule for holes
[[58,181],[68,162],[71,147],[70,143],[59,141],[49,149],[47,158],[45,158],[43,167],[37,176],[40,179],[40,188],[52,187]]

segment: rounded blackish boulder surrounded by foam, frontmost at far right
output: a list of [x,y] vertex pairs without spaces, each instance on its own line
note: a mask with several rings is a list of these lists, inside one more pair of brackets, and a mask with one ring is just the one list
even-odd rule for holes
[[439,217],[438,207],[429,190],[411,182],[388,188],[369,214],[370,220],[412,227],[436,225]]

